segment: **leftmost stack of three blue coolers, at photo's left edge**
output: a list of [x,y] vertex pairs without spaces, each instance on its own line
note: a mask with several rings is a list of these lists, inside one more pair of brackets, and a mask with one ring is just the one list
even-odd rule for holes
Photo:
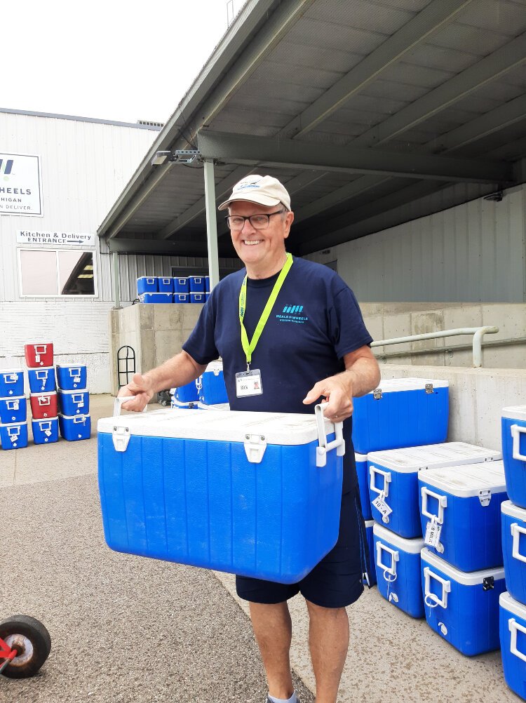
[[27,446],[27,401],[21,368],[0,370],[0,442],[4,450]]

